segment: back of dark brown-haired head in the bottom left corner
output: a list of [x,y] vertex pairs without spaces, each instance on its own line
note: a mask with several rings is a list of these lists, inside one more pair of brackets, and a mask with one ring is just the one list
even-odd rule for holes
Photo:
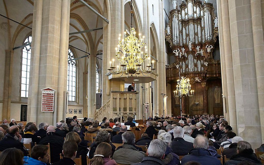
[[1,165],[23,165],[23,152],[17,148],[8,148],[0,153]]

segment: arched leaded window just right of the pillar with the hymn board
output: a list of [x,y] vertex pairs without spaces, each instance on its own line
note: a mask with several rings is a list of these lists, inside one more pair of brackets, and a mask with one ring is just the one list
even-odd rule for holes
[[[69,91],[69,101],[76,99],[76,61],[72,51],[68,50],[68,75],[67,75],[67,90]],[[70,60],[70,61],[69,61]]]

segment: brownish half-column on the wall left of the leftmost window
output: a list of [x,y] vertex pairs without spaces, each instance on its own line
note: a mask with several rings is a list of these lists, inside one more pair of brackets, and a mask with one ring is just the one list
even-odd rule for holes
[[[2,119],[10,119],[11,108],[11,91],[12,91],[12,66],[13,66],[14,50],[6,50],[5,66],[4,66],[4,92],[3,92],[3,110]],[[17,119],[18,120],[18,119]]]

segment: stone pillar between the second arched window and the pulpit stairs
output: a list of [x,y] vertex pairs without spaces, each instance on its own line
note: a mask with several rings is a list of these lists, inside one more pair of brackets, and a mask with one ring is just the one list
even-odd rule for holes
[[96,101],[96,55],[91,52],[88,62],[88,116],[92,116]]

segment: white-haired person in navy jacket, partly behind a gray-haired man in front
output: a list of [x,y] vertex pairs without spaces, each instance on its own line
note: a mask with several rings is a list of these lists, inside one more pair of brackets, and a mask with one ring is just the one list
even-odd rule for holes
[[180,158],[178,155],[172,152],[171,147],[169,147],[169,144],[171,143],[171,134],[170,133],[162,133],[158,139],[162,140],[166,144],[166,151],[164,158],[162,159],[162,162],[164,165],[174,165],[174,164],[180,164]]

